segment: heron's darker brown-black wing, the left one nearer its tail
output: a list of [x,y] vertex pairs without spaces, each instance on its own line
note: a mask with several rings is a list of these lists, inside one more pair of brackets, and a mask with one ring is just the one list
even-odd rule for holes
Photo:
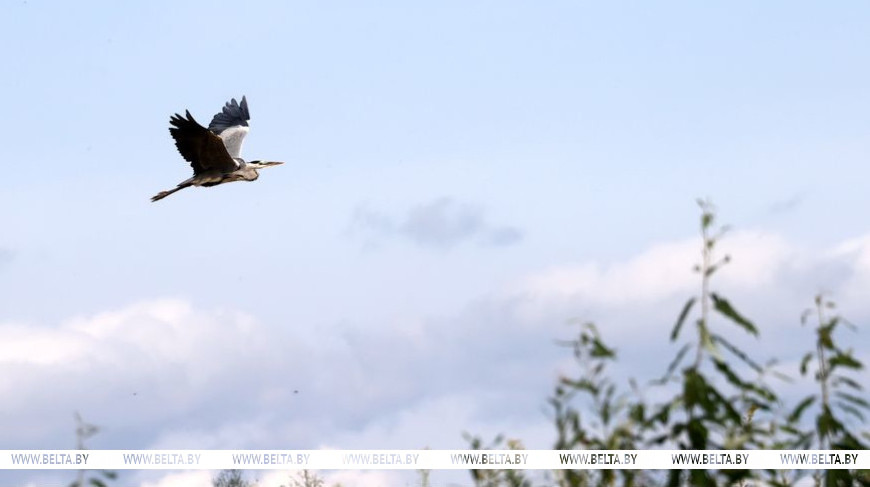
[[227,152],[223,140],[197,123],[190,112],[185,112],[187,118],[175,114],[169,119],[169,133],[175,139],[178,152],[193,168],[193,174],[217,170],[233,172],[238,164]]

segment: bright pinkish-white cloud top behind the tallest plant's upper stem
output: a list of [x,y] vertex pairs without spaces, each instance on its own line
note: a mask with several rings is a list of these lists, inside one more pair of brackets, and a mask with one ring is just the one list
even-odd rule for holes
[[[739,294],[785,289],[812,292],[854,287],[870,269],[870,239],[813,252],[781,236],[757,231],[728,234],[717,244],[721,258],[731,257],[715,275],[718,288]],[[656,245],[622,262],[580,262],[543,270],[521,280],[515,291],[544,300],[577,299],[606,306],[653,303],[687,296],[700,284],[692,272],[701,259],[700,238]]]

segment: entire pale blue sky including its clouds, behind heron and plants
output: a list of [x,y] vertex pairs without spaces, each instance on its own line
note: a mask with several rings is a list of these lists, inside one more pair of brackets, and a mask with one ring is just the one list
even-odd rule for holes
[[[553,340],[664,339],[696,197],[773,336],[819,290],[870,318],[868,14],[4,3],[0,448],[71,446],[73,410],[94,448],[546,448]],[[243,156],[286,164],[151,203],[189,176],[169,116],[242,95]]]

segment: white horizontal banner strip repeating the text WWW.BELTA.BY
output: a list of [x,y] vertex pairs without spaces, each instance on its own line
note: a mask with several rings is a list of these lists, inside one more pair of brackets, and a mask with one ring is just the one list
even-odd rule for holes
[[870,450],[0,450],[0,470],[870,469]]

